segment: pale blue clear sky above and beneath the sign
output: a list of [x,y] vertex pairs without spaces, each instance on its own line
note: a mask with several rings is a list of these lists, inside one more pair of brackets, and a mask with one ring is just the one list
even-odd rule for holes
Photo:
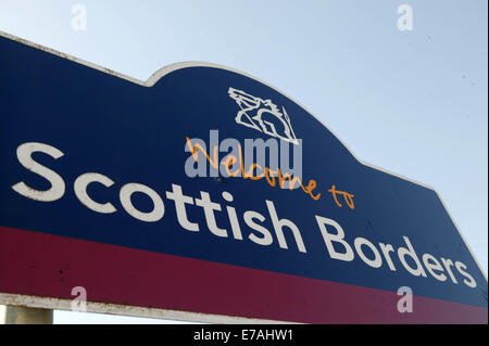
[[[76,3],[86,31],[71,27]],[[412,31],[397,28],[402,3]],[[0,0],[0,30],[138,79],[180,61],[256,76],[359,158],[434,187],[487,272],[487,13],[486,0]],[[121,319],[55,313],[146,321]]]

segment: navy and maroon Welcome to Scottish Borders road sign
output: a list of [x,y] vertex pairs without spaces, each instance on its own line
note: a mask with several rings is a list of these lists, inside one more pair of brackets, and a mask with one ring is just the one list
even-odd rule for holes
[[196,321],[487,323],[437,193],[276,89],[204,63],[140,82],[7,34],[0,52],[0,303],[66,309],[82,290],[89,311]]

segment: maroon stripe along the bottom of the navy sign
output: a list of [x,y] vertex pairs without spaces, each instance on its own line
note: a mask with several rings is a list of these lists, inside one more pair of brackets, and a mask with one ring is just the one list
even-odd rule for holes
[[0,292],[309,323],[487,323],[487,308],[0,227]]

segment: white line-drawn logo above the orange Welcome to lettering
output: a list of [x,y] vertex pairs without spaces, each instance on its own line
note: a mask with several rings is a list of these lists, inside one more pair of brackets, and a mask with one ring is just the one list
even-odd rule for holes
[[263,100],[234,88],[229,88],[227,93],[241,108],[235,118],[237,124],[299,145],[284,106],[280,112],[272,100]]

